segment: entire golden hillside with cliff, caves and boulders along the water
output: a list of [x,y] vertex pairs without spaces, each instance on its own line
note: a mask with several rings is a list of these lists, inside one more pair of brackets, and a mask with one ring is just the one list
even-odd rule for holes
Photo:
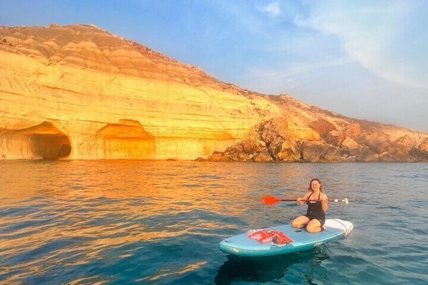
[[95,26],[0,27],[6,159],[428,161],[427,150],[426,134],[244,90]]

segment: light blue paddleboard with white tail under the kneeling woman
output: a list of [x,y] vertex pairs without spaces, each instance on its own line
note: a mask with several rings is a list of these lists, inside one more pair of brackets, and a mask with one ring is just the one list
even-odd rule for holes
[[354,225],[341,219],[326,219],[324,224],[326,230],[310,234],[303,229],[296,229],[291,224],[269,227],[269,230],[278,230],[288,236],[293,242],[284,245],[262,244],[248,238],[248,234],[238,235],[222,241],[219,249],[225,253],[238,256],[274,256],[298,251],[304,251],[327,243],[331,240],[347,236]]

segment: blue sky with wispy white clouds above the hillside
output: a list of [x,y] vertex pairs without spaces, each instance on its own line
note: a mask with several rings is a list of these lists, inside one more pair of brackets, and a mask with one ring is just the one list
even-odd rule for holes
[[0,0],[0,25],[94,24],[217,79],[428,133],[428,1]]

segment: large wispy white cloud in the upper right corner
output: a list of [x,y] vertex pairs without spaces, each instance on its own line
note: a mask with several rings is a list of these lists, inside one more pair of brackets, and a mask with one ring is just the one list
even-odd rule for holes
[[[351,59],[381,78],[428,88],[428,70],[420,68],[420,61],[426,61],[424,49],[412,45],[414,39],[407,30],[410,18],[418,16],[411,2],[312,4],[307,17],[295,19],[298,26],[337,36]],[[416,36],[426,38],[426,32]],[[406,54],[412,54],[412,59]]]

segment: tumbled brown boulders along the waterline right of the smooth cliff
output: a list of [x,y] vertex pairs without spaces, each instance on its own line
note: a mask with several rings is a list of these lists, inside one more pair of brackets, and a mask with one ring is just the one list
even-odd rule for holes
[[[396,140],[384,132],[361,132],[359,124],[332,130],[319,141],[295,138],[284,118],[260,124],[242,142],[210,161],[284,161],[284,162],[416,162],[428,161],[428,152],[416,147],[416,140],[404,135]],[[319,129],[318,129],[319,130]],[[354,139],[346,136],[348,134]],[[349,131],[352,130],[352,131]],[[355,131],[356,130],[356,131]],[[359,134],[359,135],[358,135]]]

